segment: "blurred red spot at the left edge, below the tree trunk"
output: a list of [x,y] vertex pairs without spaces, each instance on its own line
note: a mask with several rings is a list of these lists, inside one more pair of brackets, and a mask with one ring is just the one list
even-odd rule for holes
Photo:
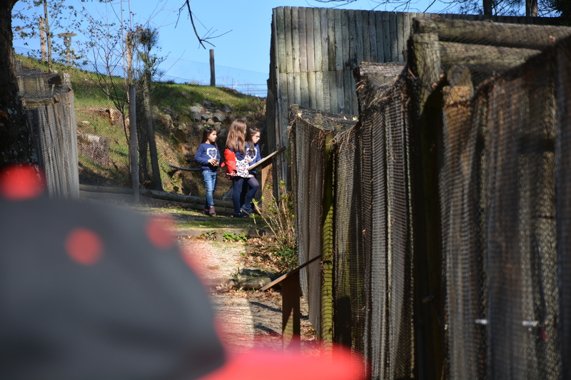
[[9,200],[26,200],[46,188],[44,173],[36,165],[10,165],[0,173],[0,195]]

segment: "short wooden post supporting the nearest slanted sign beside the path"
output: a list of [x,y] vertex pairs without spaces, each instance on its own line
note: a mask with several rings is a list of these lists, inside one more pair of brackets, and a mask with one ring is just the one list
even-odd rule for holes
[[282,286],[282,344],[284,350],[299,351],[300,340],[300,285],[299,271],[285,277]]

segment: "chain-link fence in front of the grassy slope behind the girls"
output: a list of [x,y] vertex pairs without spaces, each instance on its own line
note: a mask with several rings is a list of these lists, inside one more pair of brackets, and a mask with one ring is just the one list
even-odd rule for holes
[[[39,51],[15,48],[21,81],[46,82],[49,71]],[[31,70],[36,71],[34,75]],[[131,187],[128,156],[127,81],[123,69],[108,69],[77,61],[68,65],[66,57],[54,57],[52,72],[65,73],[74,96],[77,128],[79,183],[81,185]],[[34,78],[34,79],[31,79]],[[139,178],[143,188],[183,195],[204,196],[199,165],[193,156],[201,143],[202,130],[218,129],[218,147],[223,151],[226,128],[235,118],[248,120],[262,130],[262,154],[271,153],[265,123],[265,85],[205,86],[206,83],[162,76],[137,86],[137,130]],[[50,88],[51,84],[42,85]],[[148,95],[147,95],[148,94]],[[34,98],[31,86],[21,95]],[[29,102],[28,102],[29,103]],[[59,152],[57,155],[62,155]],[[228,191],[221,178],[215,193],[218,199]]]

